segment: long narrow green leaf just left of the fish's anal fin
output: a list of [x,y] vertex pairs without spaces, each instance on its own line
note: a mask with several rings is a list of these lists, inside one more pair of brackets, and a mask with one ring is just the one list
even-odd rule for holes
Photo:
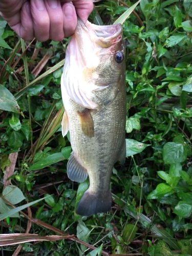
[[28,170],[40,170],[51,164],[54,164],[63,160],[65,160],[65,157],[63,157],[62,153],[54,153],[34,163],[32,166],[29,167]]

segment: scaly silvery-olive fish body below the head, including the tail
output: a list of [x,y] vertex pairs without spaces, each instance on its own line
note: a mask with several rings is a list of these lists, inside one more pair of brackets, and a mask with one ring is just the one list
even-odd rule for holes
[[[90,186],[76,209],[79,215],[91,216],[111,208],[110,179],[113,166],[119,159],[125,158],[125,95],[125,87],[122,86],[116,99],[104,110],[89,110],[94,125],[92,136],[82,131],[79,113],[85,109],[67,95],[64,96],[73,150],[68,176],[82,182],[88,174],[90,180]],[[74,179],[70,177],[70,172]]]

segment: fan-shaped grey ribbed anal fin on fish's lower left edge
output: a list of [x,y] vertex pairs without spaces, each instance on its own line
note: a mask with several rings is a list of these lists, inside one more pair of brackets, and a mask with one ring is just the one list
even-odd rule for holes
[[67,164],[67,175],[70,180],[76,182],[83,182],[88,177],[87,169],[80,165],[73,153]]

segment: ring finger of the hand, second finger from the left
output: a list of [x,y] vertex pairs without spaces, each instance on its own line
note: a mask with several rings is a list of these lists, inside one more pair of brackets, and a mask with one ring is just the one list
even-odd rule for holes
[[50,37],[50,19],[45,3],[42,0],[31,0],[30,6],[34,35],[37,40],[46,41]]

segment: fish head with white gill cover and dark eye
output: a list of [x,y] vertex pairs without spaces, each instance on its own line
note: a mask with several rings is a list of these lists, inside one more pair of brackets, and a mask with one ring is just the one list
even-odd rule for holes
[[88,109],[113,102],[125,77],[122,25],[98,26],[78,19],[63,71],[66,93]]

